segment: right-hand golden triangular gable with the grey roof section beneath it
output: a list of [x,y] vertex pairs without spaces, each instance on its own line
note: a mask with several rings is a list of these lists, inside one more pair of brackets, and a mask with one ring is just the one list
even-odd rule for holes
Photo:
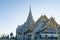
[[56,33],[56,28],[58,29],[59,25],[56,23],[55,19],[51,17],[46,25],[41,29],[41,32],[45,33]]

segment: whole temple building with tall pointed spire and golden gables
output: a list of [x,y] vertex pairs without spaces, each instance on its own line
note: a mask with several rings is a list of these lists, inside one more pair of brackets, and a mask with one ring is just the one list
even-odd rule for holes
[[41,36],[53,35],[58,37],[59,34],[60,25],[53,17],[47,18],[46,15],[41,15],[41,17],[35,22],[33,20],[31,7],[26,22],[22,25],[18,25],[16,28],[17,40],[39,40]]

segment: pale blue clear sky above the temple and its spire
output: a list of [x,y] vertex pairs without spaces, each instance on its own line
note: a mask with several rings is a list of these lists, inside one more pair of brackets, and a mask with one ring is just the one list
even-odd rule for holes
[[18,25],[26,21],[30,4],[35,21],[46,14],[48,18],[53,16],[60,24],[59,0],[0,0],[0,34],[15,34]]

